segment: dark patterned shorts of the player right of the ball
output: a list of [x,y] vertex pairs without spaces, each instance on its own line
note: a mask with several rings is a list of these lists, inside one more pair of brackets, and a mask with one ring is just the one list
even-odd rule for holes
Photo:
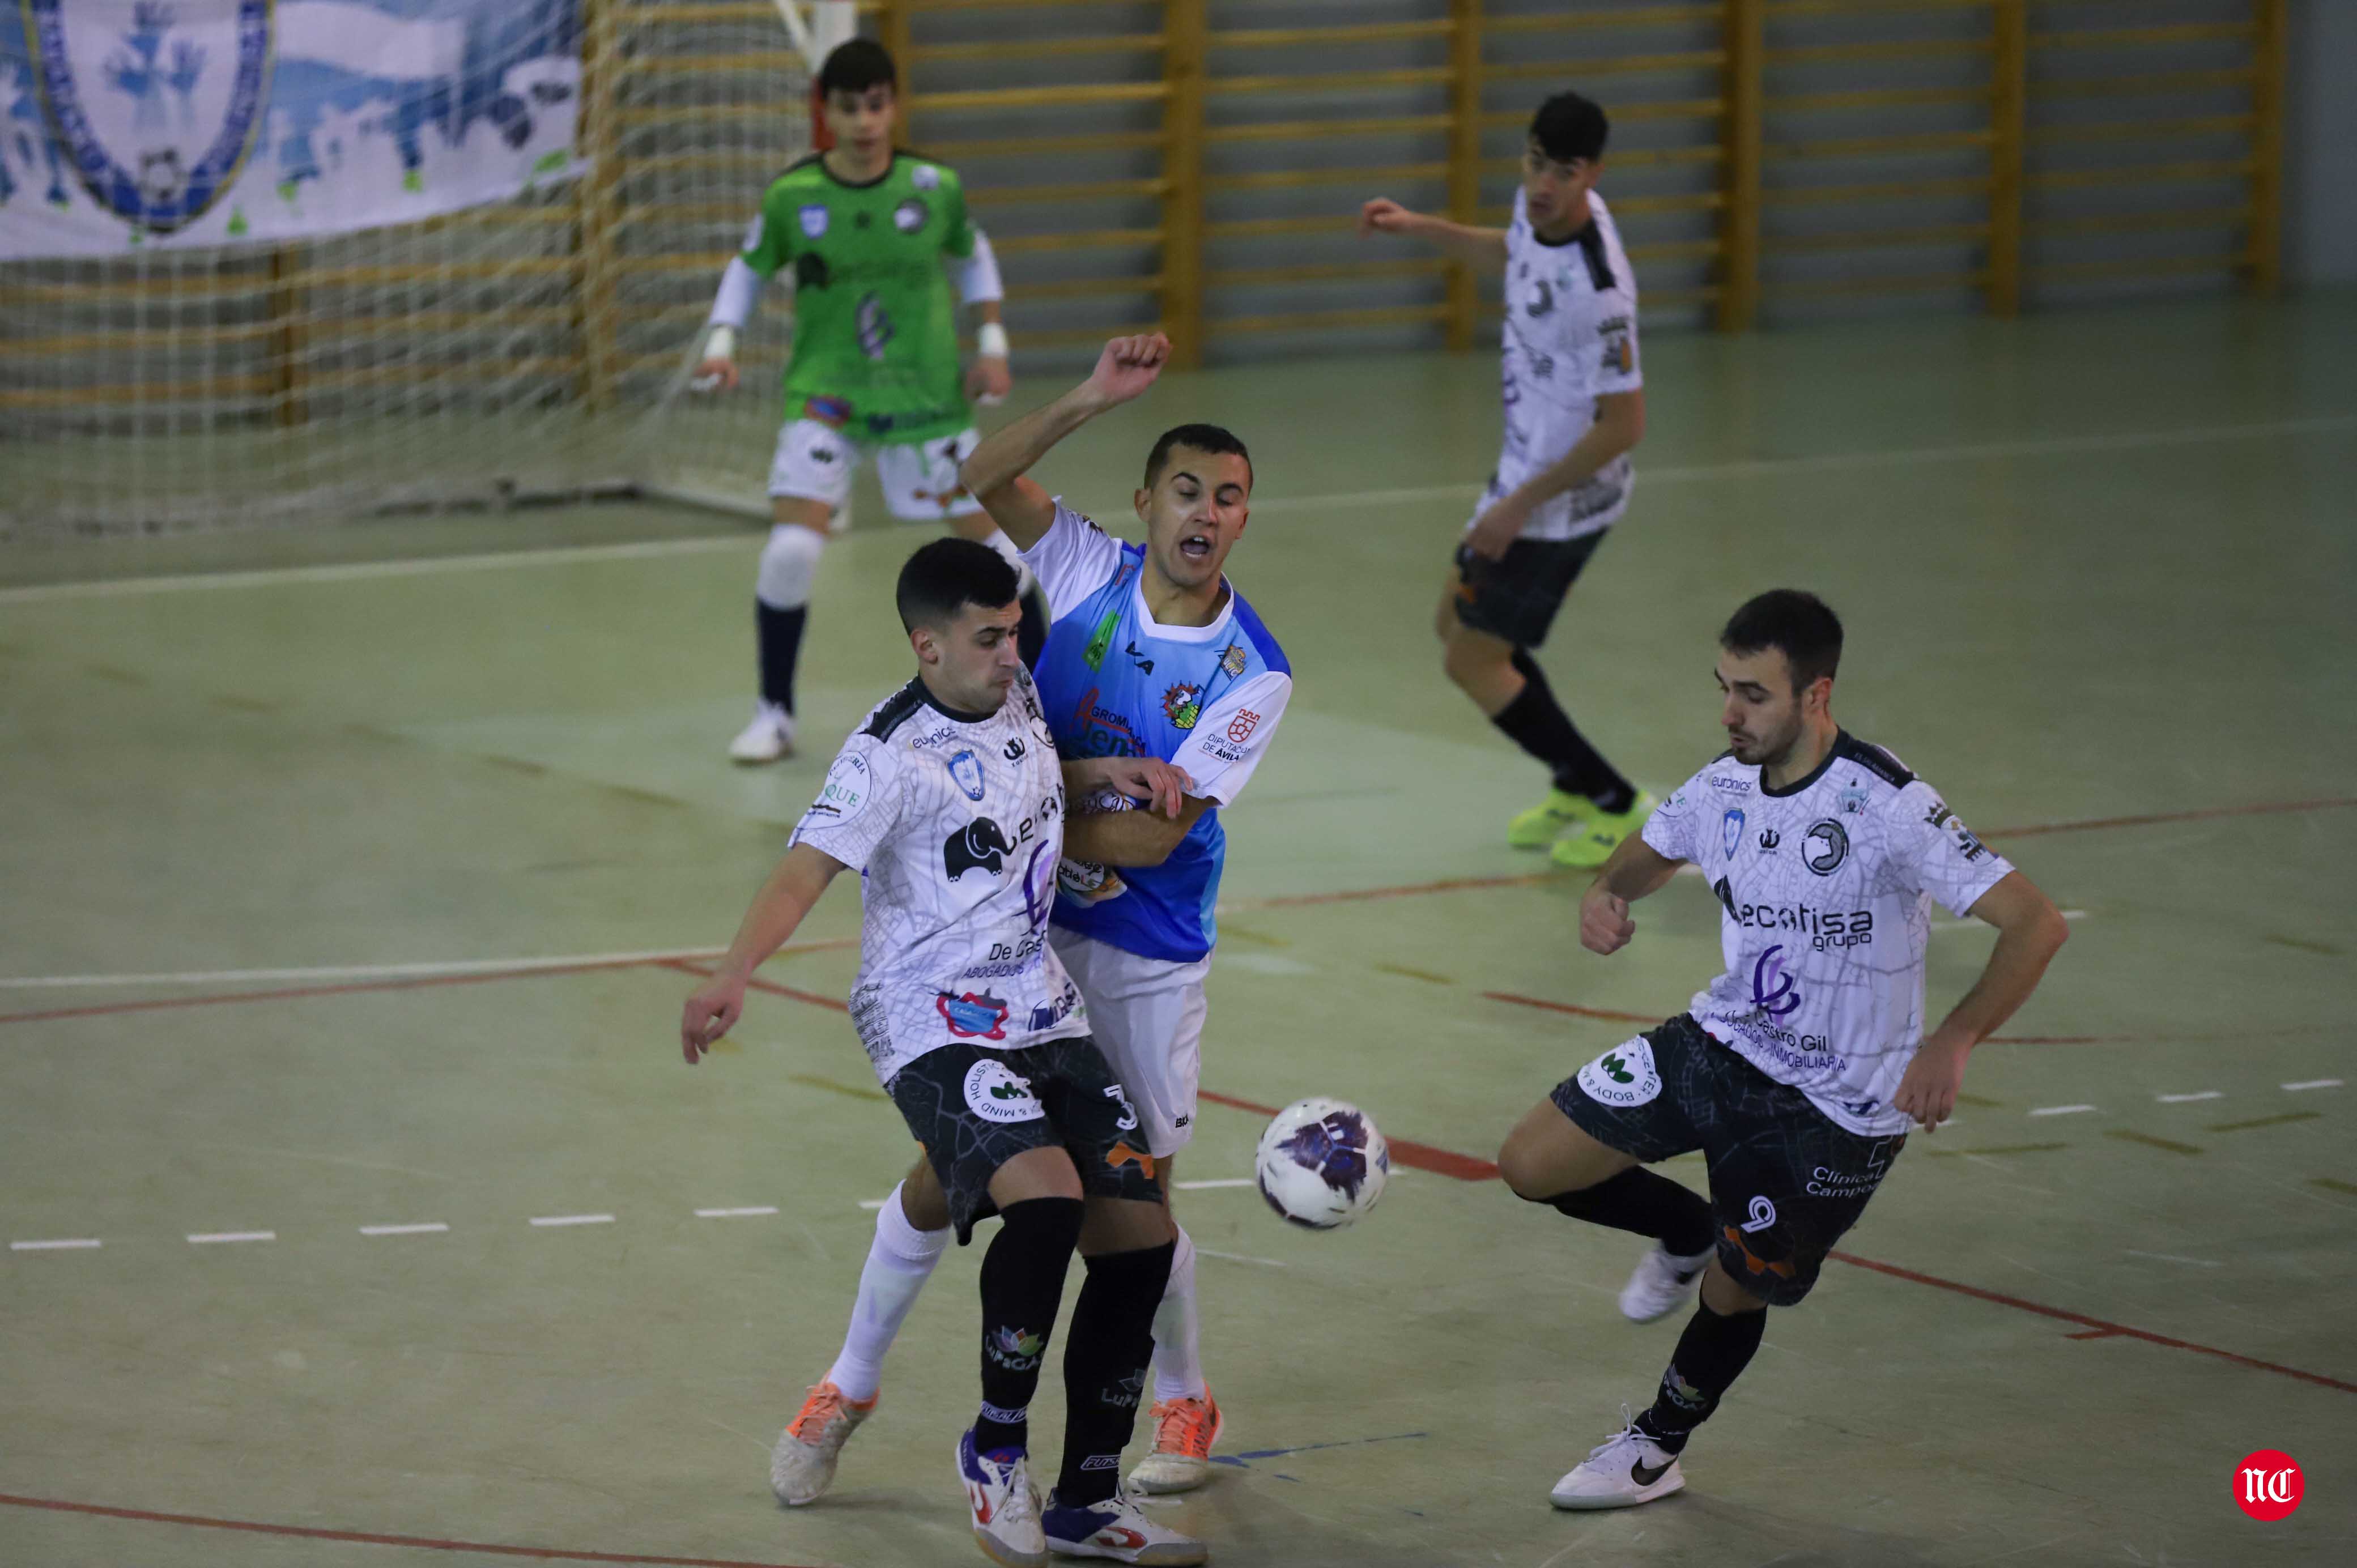
[[1718,1045],[1690,1014],[1612,1047],[1556,1085],[1553,1103],[1607,1148],[1711,1170],[1718,1266],[1770,1306],[1817,1283],[1867,1212],[1907,1134],[1862,1139],[1805,1094]]

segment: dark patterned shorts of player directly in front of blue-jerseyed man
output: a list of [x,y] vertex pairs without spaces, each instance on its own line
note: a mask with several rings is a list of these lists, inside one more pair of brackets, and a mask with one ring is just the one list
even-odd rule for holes
[[1032,1148],[1063,1148],[1087,1198],[1162,1203],[1138,1113],[1087,1035],[1016,1052],[943,1045],[884,1085],[950,1198],[957,1245],[997,1214],[990,1177]]

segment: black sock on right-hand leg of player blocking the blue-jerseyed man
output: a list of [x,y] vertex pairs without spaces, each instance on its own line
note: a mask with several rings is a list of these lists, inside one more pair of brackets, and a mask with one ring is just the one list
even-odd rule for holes
[[1063,1471],[1056,1502],[1082,1507],[1113,1497],[1122,1450],[1146,1398],[1146,1363],[1155,1356],[1155,1309],[1171,1278],[1178,1243],[1084,1259],[1089,1283],[1072,1304],[1063,1344]]

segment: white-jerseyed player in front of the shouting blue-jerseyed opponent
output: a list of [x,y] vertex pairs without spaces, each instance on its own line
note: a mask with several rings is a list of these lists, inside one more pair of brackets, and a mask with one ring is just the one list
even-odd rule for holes
[[[957,1238],[1002,1219],[983,1257],[981,1415],[957,1438],[973,1535],[997,1563],[1049,1549],[1200,1563],[1202,1542],[1120,1490],[1176,1240],[1138,1113],[1047,943],[1065,788],[1167,799],[1174,776],[1150,757],[1058,762],[1016,655],[1018,592],[1016,568],[973,540],[910,556],[896,599],[917,679],[844,743],[728,957],[688,997],[681,1049],[693,1066],[728,1033],[752,971],[837,872],[860,870],[860,1045]],[[1028,1408],[1075,1247],[1087,1283],[1063,1358],[1063,1469],[1042,1507]]]

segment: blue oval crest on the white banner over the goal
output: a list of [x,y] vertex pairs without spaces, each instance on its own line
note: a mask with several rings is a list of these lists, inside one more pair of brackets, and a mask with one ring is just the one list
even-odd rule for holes
[[[276,0],[238,0],[236,59],[172,38],[163,0],[127,33],[66,26],[68,0],[24,0],[35,78],[57,139],[92,200],[153,233],[196,222],[236,182],[262,134]],[[92,54],[92,57],[85,57]]]

